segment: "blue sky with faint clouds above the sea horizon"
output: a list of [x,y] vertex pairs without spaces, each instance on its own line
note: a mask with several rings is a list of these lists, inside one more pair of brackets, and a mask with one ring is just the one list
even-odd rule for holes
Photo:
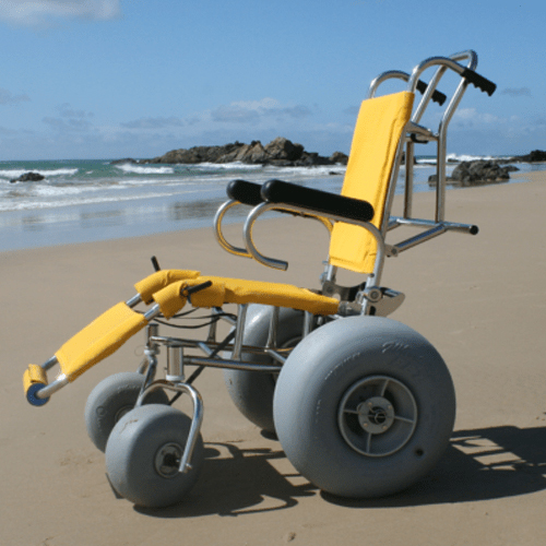
[[0,0],[0,161],[348,153],[373,78],[467,49],[498,88],[468,86],[448,153],[546,150],[545,21],[544,0]]

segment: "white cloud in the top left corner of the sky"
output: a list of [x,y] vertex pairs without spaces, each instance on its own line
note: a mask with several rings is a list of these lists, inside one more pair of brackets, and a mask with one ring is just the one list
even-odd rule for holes
[[0,20],[24,26],[55,19],[107,21],[120,14],[120,0],[0,0]]

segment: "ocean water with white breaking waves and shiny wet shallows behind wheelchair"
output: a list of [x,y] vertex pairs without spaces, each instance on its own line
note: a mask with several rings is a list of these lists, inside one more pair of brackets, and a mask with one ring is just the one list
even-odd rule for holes
[[[477,157],[449,157],[472,158]],[[415,191],[430,191],[427,180],[435,171],[432,159],[417,157],[417,161]],[[546,164],[518,164],[518,167],[525,173],[546,169]],[[450,163],[448,173],[453,168]],[[45,179],[10,182],[27,171],[39,173]],[[0,162],[0,251],[212,226],[216,209],[226,200],[229,180],[242,178],[262,183],[278,178],[339,192],[344,173],[342,165],[112,165],[107,159]],[[396,192],[402,191],[401,171]],[[242,206],[232,211],[226,222],[240,222],[248,213]]]

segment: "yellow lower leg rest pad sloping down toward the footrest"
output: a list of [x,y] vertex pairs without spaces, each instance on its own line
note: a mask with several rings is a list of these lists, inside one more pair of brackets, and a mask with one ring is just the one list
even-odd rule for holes
[[73,381],[84,371],[115,353],[147,324],[144,316],[124,302],[114,306],[75,334],[55,354],[62,373]]

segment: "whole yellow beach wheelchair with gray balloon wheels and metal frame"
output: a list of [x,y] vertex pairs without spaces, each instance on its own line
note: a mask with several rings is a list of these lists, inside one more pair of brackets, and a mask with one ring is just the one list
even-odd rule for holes
[[[193,383],[207,367],[224,369],[238,410],[276,435],[289,462],[323,491],[371,498],[420,479],[449,443],[455,393],[435,347],[387,318],[404,295],[381,286],[381,273],[387,257],[447,232],[477,233],[474,225],[444,218],[449,121],[468,84],[489,95],[496,87],[475,72],[476,64],[476,54],[464,51],[426,59],[411,73],[390,71],[376,79],[358,114],[339,195],[281,180],[228,185],[229,199],[214,218],[219,245],[285,270],[286,262],[257,248],[257,219],[276,211],[318,221],[330,232],[320,289],[161,270],[153,259],[156,271],[134,285],[134,297],[107,310],[41,366],[28,366],[27,401],[45,404],[144,330],[144,359],[138,371],[103,380],[85,407],[87,430],[105,451],[111,486],[135,505],[170,506],[194,485],[204,448],[203,401]],[[428,69],[434,74],[424,83],[420,78]],[[448,72],[460,76],[449,100],[437,88]],[[377,96],[388,80],[402,81],[406,91]],[[423,93],[418,102],[417,91]],[[432,102],[446,105],[438,131],[420,124]],[[436,142],[438,150],[432,219],[412,215],[414,147],[420,142]],[[391,216],[403,158],[404,212]],[[244,225],[245,244],[237,247],[222,226],[226,213],[241,205],[251,210]],[[397,244],[385,242],[389,232],[406,225],[418,233]],[[336,282],[340,270],[359,273],[364,281],[342,286]],[[209,310],[203,340],[161,335],[164,320],[185,319],[187,304]],[[236,313],[224,309],[229,304]],[[224,339],[218,339],[218,321],[229,325]],[[156,377],[161,352],[166,355],[163,379]],[[57,366],[60,371],[49,382],[48,371]],[[174,407],[180,396],[191,401],[191,416]]]

